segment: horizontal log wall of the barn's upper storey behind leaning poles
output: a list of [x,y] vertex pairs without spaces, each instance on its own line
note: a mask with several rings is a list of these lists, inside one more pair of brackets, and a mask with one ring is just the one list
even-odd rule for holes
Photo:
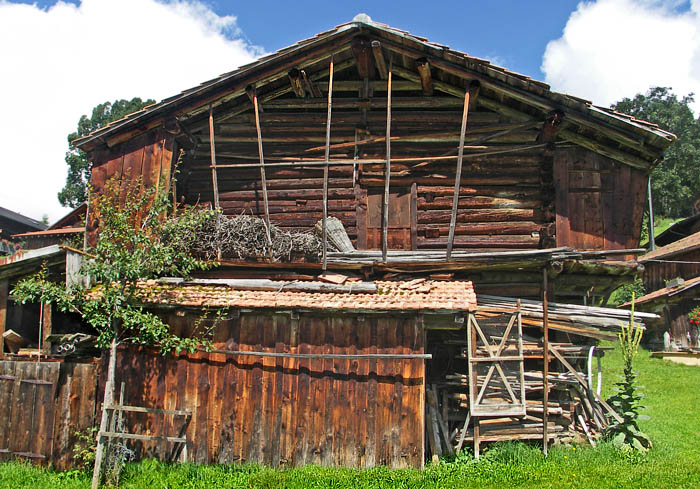
[[[376,92],[375,95],[380,101],[385,97]],[[453,100],[459,105],[459,99]],[[322,152],[305,150],[318,147],[324,141],[325,114],[275,112],[276,107],[263,105],[265,111],[260,118],[268,162],[275,161],[279,155],[322,156]],[[381,106],[368,111],[365,116],[348,108],[350,111],[333,113],[332,143],[353,141],[357,128],[363,124],[362,117],[366,118],[366,125],[358,133],[359,139],[384,133],[386,114]],[[401,158],[455,154],[461,116],[461,111],[457,110],[407,109],[393,114],[392,137],[398,139],[392,142],[394,163],[389,227],[395,243],[390,247],[430,249],[446,246],[456,159],[404,163]],[[513,126],[512,121],[503,116],[475,111],[469,116],[467,144],[485,135],[493,136],[497,131],[513,129]],[[206,138],[208,133],[202,135],[203,141],[208,141]],[[489,147],[490,151],[502,147],[510,151],[507,154],[468,155],[465,158],[455,230],[456,247],[537,248],[541,237],[553,235],[554,214],[549,205],[552,196],[546,195],[551,191],[542,185],[543,150],[526,149],[536,138],[536,129],[514,130],[508,135],[493,137],[489,142],[494,143]],[[218,124],[215,140],[217,165],[254,163],[251,157],[257,156],[257,139],[251,114],[243,113]],[[382,141],[360,145],[357,147],[358,156],[381,160],[385,156],[384,146]],[[519,150],[519,147],[524,149]],[[345,147],[333,153],[352,158],[353,151],[354,148]],[[209,165],[208,146],[202,144],[190,154],[181,175],[178,193],[188,202],[213,200]],[[258,168],[219,168],[217,173],[219,197],[225,213],[263,214]],[[319,166],[266,168],[271,220],[289,230],[311,228],[322,216],[322,176],[323,169]],[[343,221],[359,248],[378,247],[375,235],[380,227],[372,222],[371,216],[376,211],[373,207],[381,199],[373,200],[372,194],[383,185],[382,164],[331,167],[329,215]],[[403,196],[409,196],[406,204],[399,202]]]

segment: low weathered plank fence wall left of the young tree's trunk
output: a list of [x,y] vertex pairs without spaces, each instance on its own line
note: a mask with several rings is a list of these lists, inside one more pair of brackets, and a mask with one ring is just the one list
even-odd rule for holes
[[67,469],[93,426],[97,365],[0,361],[0,454]]

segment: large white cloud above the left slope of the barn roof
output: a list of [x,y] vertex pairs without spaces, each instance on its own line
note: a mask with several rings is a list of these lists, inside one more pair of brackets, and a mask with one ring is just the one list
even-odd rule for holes
[[43,10],[0,0],[0,206],[68,212],[66,136],[105,101],[161,100],[248,63],[261,49],[233,16],[197,0],[83,0]]

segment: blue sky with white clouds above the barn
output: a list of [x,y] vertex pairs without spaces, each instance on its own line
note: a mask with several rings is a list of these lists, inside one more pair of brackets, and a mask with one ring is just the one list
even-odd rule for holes
[[95,105],[162,100],[360,12],[596,105],[700,94],[700,0],[0,0],[0,206],[68,211],[66,136]]

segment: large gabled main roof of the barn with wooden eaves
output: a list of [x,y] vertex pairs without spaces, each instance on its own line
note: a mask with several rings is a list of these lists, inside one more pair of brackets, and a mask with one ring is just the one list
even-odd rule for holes
[[[205,128],[210,105],[216,117],[221,118],[249,110],[250,99],[246,89],[250,87],[255,88],[263,106],[281,104],[282,107],[286,103],[284,96],[295,90],[289,82],[290,71],[304,70],[311,81],[323,85],[333,56],[336,71],[353,68],[367,72],[366,67],[357,66],[357,58],[353,56],[358,42],[363,49],[378,48],[385,59],[391,59],[397,82],[420,83],[424,72],[418,67],[427,63],[428,71],[433,73],[429,90],[433,96],[430,104],[426,105],[431,108],[441,104],[454,105],[455,99],[462,98],[470,83],[476,81],[480,84],[477,104],[481,108],[515,122],[544,121],[548,114],[556,112],[565,121],[565,126],[557,132],[557,140],[645,170],[663,157],[663,151],[675,139],[673,134],[654,124],[597,107],[574,96],[553,92],[545,83],[359,15],[352,22],[146,107],[77,139],[74,144],[86,151],[104,148],[105,145],[112,147],[145,131],[157,127],[168,129],[173,125],[189,133],[196,132]],[[371,60],[371,64],[375,62]],[[382,78],[385,71],[380,66],[376,72],[374,66],[371,70],[370,79],[375,77],[375,73]],[[277,100],[280,97],[283,99]],[[321,101],[307,99],[306,103],[311,107]],[[338,102],[343,103],[341,100]],[[395,100],[394,103],[400,106],[401,101]]]

